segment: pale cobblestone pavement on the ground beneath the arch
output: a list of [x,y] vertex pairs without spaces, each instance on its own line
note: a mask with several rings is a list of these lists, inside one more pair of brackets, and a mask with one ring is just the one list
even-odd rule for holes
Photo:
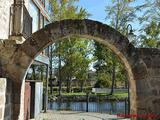
[[47,111],[40,113],[35,120],[130,120],[117,118],[116,115],[78,112],[78,111]]

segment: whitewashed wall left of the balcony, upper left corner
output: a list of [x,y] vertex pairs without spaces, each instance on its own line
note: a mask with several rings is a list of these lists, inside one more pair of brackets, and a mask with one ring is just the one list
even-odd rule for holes
[[8,39],[11,4],[13,0],[0,0],[0,39]]

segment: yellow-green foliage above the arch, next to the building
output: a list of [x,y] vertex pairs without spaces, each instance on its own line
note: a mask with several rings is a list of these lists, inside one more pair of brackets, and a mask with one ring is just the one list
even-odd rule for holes
[[[75,5],[79,0],[50,0],[52,4],[53,21],[63,19],[85,18],[90,16],[83,8]],[[79,10],[79,11],[78,11]]]

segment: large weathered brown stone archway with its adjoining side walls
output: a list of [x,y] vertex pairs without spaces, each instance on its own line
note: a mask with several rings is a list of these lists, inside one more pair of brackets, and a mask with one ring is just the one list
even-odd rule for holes
[[[158,77],[159,50],[137,49],[128,39],[108,25],[88,19],[62,20],[51,23],[32,34],[23,44],[1,42],[1,76],[12,80],[13,120],[23,119],[23,92],[21,85],[32,60],[47,46],[67,38],[80,36],[103,43],[117,54],[126,71],[130,83],[132,115],[159,114],[160,82]],[[12,44],[11,44],[12,43]],[[136,119],[133,117],[133,119]]]

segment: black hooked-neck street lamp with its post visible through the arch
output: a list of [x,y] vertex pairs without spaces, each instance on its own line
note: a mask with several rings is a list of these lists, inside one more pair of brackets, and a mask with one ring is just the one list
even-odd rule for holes
[[[129,30],[129,27],[130,27],[130,30]],[[128,32],[128,30],[129,30],[129,32]],[[127,35],[128,39],[129,38],[133,38],[135,36],[133,34],[133,29],[132,29],[132,25],[131,24],[127,25],[126,31],[127,31],[126,35]],[[130,114],[130,90],[129,90],[129,87],[130,87],[130,84],[129,84],[129,81],[128,81],[128,115]]]

